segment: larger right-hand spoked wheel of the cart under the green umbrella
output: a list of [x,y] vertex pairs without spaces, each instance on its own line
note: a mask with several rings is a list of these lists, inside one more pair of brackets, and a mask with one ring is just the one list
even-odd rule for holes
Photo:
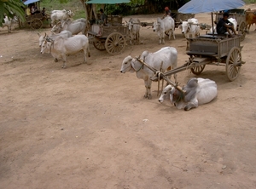
[[109,54],[120,54],[125,50],[125,37],[119,32],[111,33],[105,42]]

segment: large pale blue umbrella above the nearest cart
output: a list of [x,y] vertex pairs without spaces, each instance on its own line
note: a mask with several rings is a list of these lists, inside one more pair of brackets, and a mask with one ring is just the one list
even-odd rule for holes
[[177,11],[183,14],[209,13],[237,9],[244,4],[243,0],[191,0]]

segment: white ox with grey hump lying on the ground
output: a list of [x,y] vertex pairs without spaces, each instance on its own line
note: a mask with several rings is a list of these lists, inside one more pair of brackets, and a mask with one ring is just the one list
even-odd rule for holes
[[189,79],[188,83],[183,87],[183,91],[184,93],[172,87],[172,85],[167,85],[163,89],[159,101],[163,102],[165,99],[170,99],[177,109],[189,111],[191,108],[207,104],[216,98],[218,94],[217,84],[214,81],[200,77]]

